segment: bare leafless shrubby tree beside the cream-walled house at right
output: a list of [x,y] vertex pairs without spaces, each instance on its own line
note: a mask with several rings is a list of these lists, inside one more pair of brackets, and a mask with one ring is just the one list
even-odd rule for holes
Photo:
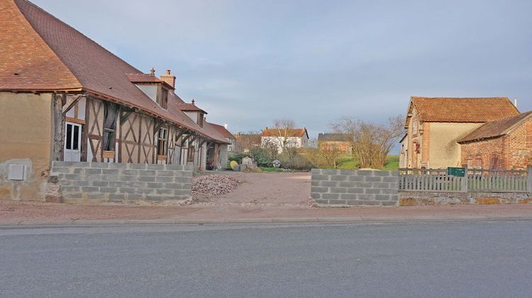
[[350,136],[353,156],[360,167],[384,167],[386,157],[404,131],[403,117],[390,117],[386,124],[375,124],[349,117],[331,124],[338,133]]

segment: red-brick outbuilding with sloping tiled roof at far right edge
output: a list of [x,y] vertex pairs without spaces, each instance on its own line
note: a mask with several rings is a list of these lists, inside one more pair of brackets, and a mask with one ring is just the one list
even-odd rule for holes
[[526,169],[532,161],[532,111],[487,122],[458,143],[467,167]]

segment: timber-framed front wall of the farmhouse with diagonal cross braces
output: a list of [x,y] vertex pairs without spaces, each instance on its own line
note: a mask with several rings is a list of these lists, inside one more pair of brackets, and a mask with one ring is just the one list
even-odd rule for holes
[[[65,143],[65,114],[72,109],[72,101],[85,98],[85,123],[82,128],[81,161],[163,163],[167,165],[194,165],[194,170],[205,164],[207,141],[198,133],[154,118],[139,109],[118,104],[115,128],[115,151],[104,151],[104,100],[87,94],[54,94],[52,100],[52,153],[51,161],[63,160]],[[160,128],[167,128],[166,155],[157,155],[157,136]],[[189,160],[189,148],[194,148],[194,159]]]

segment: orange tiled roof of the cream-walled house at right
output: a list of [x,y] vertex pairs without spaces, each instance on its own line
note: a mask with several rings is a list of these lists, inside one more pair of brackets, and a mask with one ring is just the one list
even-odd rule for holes
[[456,98],[456,97],[411,97],[412,106],[427,122],[473,122],[482,123],[519,114],[506,97]]

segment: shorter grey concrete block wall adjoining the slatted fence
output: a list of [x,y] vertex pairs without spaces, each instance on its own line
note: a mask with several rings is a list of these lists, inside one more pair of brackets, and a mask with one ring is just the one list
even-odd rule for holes
[[311,171],[311,197],[323,206],[397,206],[399,172],[378,170]]

